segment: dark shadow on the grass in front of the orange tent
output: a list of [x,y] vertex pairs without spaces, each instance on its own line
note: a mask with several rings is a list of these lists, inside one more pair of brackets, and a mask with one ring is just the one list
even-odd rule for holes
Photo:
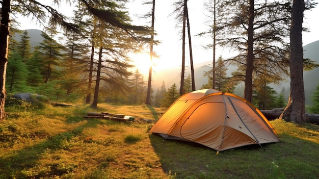
[[[319,178],[319,144],[283,135],[283,142],[248,145],[216,155],[208,147],[149,135],[166,173],[176,178]],[[307,177],[306,177],[307,176]]]

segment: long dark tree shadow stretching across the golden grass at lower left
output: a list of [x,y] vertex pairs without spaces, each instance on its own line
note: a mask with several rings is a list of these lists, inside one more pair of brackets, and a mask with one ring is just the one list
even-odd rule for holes
[[68,173],[68,169],[59,169],[57,166],[51,166],[51,173],[39,172],[36,174],[36,176],[33,176],[32,173],[28,174],[28,172],[22,171],[37,166],[41,155],[45,154],[48,150],[55,151],[63,149],[63,142],[65,140],[70,140],[73,137],[83,133],[85,129],[95,127],[97,124],[98,121],[90,120],[71,131],[58,134],[56,136],[50,136],[47,138],[47,140],[41,143],[13,151],[12,155],[0,158],[0,178],[41,178],[45,176],[57,176]]

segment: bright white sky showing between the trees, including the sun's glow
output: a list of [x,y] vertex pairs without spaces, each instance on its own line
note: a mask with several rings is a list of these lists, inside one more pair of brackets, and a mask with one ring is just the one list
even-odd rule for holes
[[[44,0],[40,0],[43,2]],[[47,2],[47,0],[45,0]],[[315,2],[318,2],[315,1]],[[159,59],[153,59],[153,69],[159,72],[167,68],[180,67],[181,64],[181,40],[180,40],[180,28],[176,27],[176,20],[174,15],[170,15],[173,12],[173,1],[156,1],[155,3],[155,25],[154,29],[157,33],[155,40],[159,40],[161,43],[154,46],[154,52],[159,55]],[[197,34],[207,31],[208,27],[205,21],[208,20],[207,13],[204,12],[204,0],[189,0],[189,17],[191,24],[191,35],[192,35],[192,49],[194,63],[198,64],[201,62],[212,61],[212,49],[206,50],[203,46],[207,43],[212,43],[212,40],[207,37],[198,37]],[[72,13],[70,6],[60,7],[60,12],[65,15]],[[145,20],[137,18],[135,15],[143,14],[151,10],[151,6],[141,6],[140,1],[134,1],[128,5],[128,11],[132,17],[132,24],[135,25],[150,25],[145,24]],[[311,11],[305,11],[304,15],[304,26],[310,29],[310,33],[303,33],[303,45],[319,40],[319,7],[312,9]],[[21,29],[39,29],[43,30],[39,24],[30,19],[22,20]],[[150,19],[148,20],[150,21]],[[187,46],[188,48],[188,46]],[[148,49],[146,49],[148,51]],[[188,50],[187,50],[188,52]],[[233,56],[233,52],[229,52],[228,49],[217,47],[216,57],[222,56],[223,58],[229,58]],[[187,57],[186,65],[189,65],[189,54]],[[136,64],[140,66],[142,73],[147,73],[147,68],[142,69],[143,64],[147,56],[132,56],[132,60],[136,60]],[[216,58],[216,59],[217,59]],[[140,61],[139,61],[140,60]]]

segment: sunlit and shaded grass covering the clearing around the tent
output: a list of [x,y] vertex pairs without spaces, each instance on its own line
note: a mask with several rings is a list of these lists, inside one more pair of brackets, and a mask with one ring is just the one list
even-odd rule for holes
[[[319,178],[319,126],[271,123],[282,142],[219,152],[148,133],[149,106],[7,108],[0,123],[0,178]],[[84,119],[87,112],[134,122]],[[155,114],[154,114],[155,113]]]

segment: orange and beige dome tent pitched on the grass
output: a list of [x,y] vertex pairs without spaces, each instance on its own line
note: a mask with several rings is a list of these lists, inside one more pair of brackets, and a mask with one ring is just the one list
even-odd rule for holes
[[217,151],[280,141],[267,118],[247,100],[214,89],[180,96],[150,132]]

